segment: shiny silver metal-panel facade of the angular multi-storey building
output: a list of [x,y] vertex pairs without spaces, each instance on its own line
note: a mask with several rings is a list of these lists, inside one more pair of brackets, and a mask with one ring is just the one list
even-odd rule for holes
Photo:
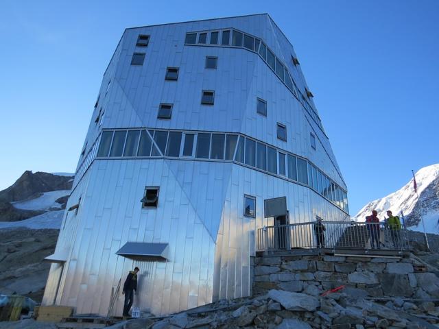
[[[309,159],[346,189],[327,136],[257,53],[185,45],[187,32],[222,29],[263,40],[297,87],[306,87],[292,46],[267,14],[127,29],[104,74],[85,153],[103,129],[236,132]],[[147,47],[136,47],[139,34],[150,36]],[[131,65],[137,52],[145,53],[143,65]],[[205,69],[206,56],[217,57],[217,69]],[[178,68],[177,81],[165,80],[167,67]],[[202,90],[215,91],[213,106],[201,104]],[[258,97],[267,103],[266,117],[257,113]],[[171,119],[157,119],[160,103],[173,104]],[[286,141],[277,138],[277,123],[286,127]],[[134,306],[156,315],[249,295],[255,230],[273,222],[263,216],[264,199],[285,196],[291,223],[346,217],[308,186],[230,161],[89,158],[78,162],[83,169],[67,208],[80,207],[66,211],[56,247],[69,256],[64,266],[51,266],[43,300],[75,306],[78,314],[106,315],[112,291],[135,266],[141,271]],[[157,208],[142,208],[145,186],[160,188]],[[254,217],[244,215],[244,195],[255,198]],[[118,256],[127,242],[168,243],[169,260]],[[123,295],[115,301],[112,315],[119,315]]]

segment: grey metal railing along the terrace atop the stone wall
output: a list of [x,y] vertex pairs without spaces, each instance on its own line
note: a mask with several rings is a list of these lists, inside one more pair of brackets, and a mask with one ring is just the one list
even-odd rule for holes
[[408,250],[406,231],[383,223],[311,221],[257,230],[257,250],[287,249]]

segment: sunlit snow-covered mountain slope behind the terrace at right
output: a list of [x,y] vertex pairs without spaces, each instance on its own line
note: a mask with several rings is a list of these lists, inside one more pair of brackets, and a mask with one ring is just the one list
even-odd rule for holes
[[413,178],[398,191],[381,199],[369,202],[355,217],[354,221],[365,221],[372,210],[377,210],[378,217],[383,220],[387,210],[401,217],[403,212],[405,224],[411,230],[423,230],[420,223],[420,212],[423,210],[425,230],[430,233],[439,233],[439,164],[420,169],[416,174],[418,197],[413,188]]

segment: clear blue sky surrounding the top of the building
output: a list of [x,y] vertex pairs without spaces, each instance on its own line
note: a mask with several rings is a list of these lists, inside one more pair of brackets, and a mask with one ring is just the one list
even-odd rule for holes
[[0,2],[0,190],[75,170],[126,27],[268,12],[295,47],[351,215],[439,162],[439,1]]

